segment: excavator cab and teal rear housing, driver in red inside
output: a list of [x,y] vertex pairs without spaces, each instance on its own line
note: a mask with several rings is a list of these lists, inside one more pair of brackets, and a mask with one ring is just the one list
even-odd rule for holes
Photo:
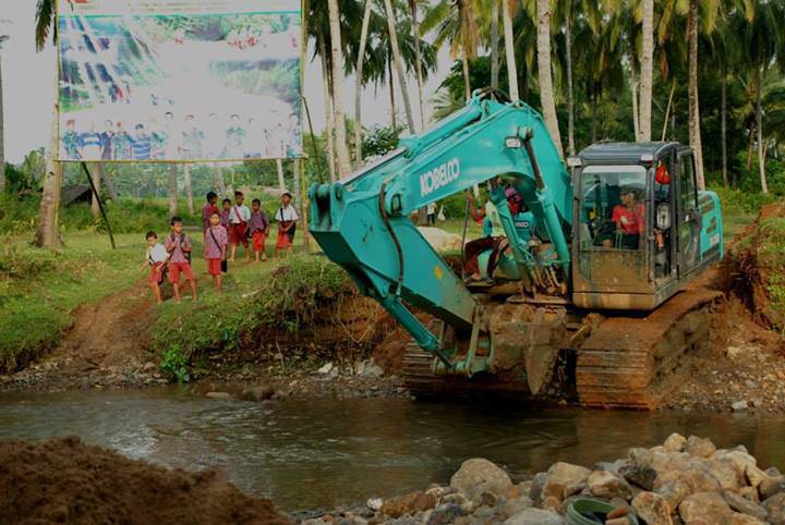
[[600,143],[569,161],[572,303],[651,310],[723,255],[720,200],[678,143]]

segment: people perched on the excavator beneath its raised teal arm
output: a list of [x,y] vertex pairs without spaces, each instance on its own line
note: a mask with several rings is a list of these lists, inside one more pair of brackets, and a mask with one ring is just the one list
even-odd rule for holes
[[[523,198],[512,186],[508,186],[505,190],[505,196],[518,235],[527,242],[530,241],[536,230],[534,213],[528,210]],[[488,249],[492,251],[486,272],[486,274],[491,277],[499,262],[502,254],[505,252],[509,253],[510,247],[496,205],[488,199],[488,202],[485,203],[484,209],[478,209],[471,193],[467,193],[467,199],[469,200],[469,213],[471,218],[476,222],[482,221],[483,236],[467,243],[463,249],[466,260],[464,269],[469,276],[469,281],[482,282],[483,278],[480,272],[479,262],[480,254]]]

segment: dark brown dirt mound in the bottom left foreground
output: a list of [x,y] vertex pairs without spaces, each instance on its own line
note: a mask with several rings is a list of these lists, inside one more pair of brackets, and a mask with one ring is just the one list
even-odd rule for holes
[[57,438],[0,443],[0,523],[290,522],[220,472],[170,471]]

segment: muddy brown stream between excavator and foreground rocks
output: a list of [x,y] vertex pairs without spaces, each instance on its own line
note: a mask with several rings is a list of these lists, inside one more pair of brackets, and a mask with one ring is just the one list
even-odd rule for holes
[[0,439],[76,435],[168,466],[222,466],[245,491],[290,512],[444,484],[473,456],[519,478],[555,461],[591,466],[672,431],[744,443],[763,466],[785,467],[785,417],[386,400],[262,405],[176,388],[0,396]]

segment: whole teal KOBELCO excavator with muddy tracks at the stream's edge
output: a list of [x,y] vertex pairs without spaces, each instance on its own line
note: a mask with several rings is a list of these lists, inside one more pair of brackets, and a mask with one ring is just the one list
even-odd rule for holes
[[[506,242],[479,256],[486,279],[468,283],[412,215],[484,183]],[[516,223],[510,192],[534,235]],[[557,384],[585,406],[651,410],[708,339],[720,294],[697,278],[723,256],[720,199],[698,190],[692,150],[678,143],[602,142],[566,166],[539,112],[478,90],[309,197],[326,256],[411,334],[415,398],[536,396]]]

